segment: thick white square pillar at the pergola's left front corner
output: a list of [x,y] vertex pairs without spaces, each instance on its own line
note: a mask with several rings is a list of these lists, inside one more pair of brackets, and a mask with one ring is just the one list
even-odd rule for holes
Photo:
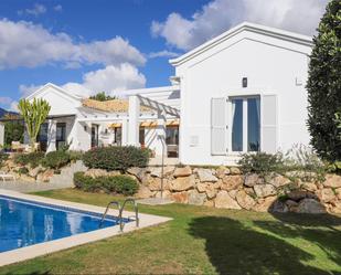
[[140,99],[136,95],[129,96],[129,131],[128,145],[139,146]]

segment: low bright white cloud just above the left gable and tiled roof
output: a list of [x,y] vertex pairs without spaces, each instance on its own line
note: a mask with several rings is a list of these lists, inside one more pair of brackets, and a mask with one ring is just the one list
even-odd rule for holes
[[[138,68],[129,63],[117,66],[108,65],[105,68],[88,72],[83,76],[82,83],[70,82],[62,85],[62,88],[74,95],[87,97],[106,92],[109,95],[117,95],[119,92],[130,88],[141,88],[146,85],[146,77]],[[23,97],[41,88],[42,85],[20,85],[19,89]]]

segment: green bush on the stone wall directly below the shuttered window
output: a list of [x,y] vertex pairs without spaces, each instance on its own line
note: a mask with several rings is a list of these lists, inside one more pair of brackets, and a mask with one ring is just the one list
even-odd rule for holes
[[256,172],[264,174],[281,171],[284,169],[284,158],[279,152],[275,155],[266,152],[244,154],[238,165],[244,173]]

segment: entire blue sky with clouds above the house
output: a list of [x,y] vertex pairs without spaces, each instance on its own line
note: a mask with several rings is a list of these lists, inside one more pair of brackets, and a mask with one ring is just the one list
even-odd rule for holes
[[169,59],[242,21],[312,35],[327,2],[1,0],[0,107],[47,82],[83,96],[169,85]]

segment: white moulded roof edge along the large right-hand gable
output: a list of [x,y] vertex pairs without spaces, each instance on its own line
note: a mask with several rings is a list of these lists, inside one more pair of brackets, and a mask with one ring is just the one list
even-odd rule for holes
[[172,64],[173,66],[177,66],[179,64],[182,64],[187,62],[188,60],[201,54],[202,52],[224,42],[225,40],[228,40],[230,38],[243,32],[243,31],[251,31],[254,33],[259,33],[263,35],[271,36],[271,38],[277,38],[280,40],[285,41],[290,41],[297,44],[301,45],[307,45],[307,46],[312,46],[312,38],[307,36],[303,34],[295,33],[295,32],[289,32],[289,31],[284,31],[280,29],[276,28],[270,28],[270,27],[265,27],[260,24],[255,24],[255,23],[249,23],[249,22],[243,22],[235,28],[230,29],[228,31],[217,35],[216,38],[209,40],[207,42],[194,47],[190,52],[177,57],[169,60],[169,63]]

